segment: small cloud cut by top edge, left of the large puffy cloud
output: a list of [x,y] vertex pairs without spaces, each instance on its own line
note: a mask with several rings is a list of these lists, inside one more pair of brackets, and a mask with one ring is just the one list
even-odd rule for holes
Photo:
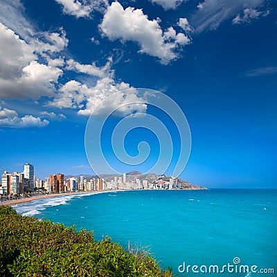
[[107,6],[107,0],[55,0],[62,5],[62,11],[66,15],[75,17],[89,17],[92,10],[102,10]]

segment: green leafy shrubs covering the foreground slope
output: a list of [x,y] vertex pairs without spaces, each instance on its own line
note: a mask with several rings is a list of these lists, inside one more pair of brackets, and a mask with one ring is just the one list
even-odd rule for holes
[[39,221],[0,206],[0,276],[161,276],[147,253],[134,255],[105,238],[93,239],[89,231]]

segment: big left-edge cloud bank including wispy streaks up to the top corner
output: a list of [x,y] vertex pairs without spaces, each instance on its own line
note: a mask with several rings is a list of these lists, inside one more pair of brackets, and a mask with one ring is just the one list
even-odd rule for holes
[[53,96],[63,71],[57,55],[69,44],[62,28],[41,32],[30,24],[19,0],[0,3],[0,97],[39,99]]

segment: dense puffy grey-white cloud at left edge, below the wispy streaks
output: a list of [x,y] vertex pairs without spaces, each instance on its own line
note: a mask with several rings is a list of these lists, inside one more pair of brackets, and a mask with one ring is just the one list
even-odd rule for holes
[[0,24],[0,97],[33,100],[52,96],[62,70],[39,64],[34,48]]

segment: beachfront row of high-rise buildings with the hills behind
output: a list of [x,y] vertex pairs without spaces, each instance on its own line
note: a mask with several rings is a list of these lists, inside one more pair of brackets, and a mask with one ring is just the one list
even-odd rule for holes
[[[190,184],[177,177],[166,175],[143,175],[141,172],[123,173],[123,175],[105,175],[84,177],[65,177],[62,173],[51,174],[44,180],[34,175],[35,167],[24,164],[24,171],[9,172],[1,175],[0,196],[3,202],[16,197],[22,199],[32,195],[57,193],[96,192],[109,190],[206,190],[206,187]],[[135,175],[134,175],[135,174]],[[126,179],[128,177],[128,180]],[[107,178],[107,179],[106,179]],[[0,197],[0,202],[1,202]]]

